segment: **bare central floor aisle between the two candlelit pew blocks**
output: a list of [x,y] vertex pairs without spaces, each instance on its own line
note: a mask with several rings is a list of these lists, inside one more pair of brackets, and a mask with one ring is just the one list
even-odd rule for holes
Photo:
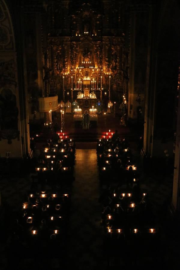
[[101,206],[95,149],[77,149],[69,227],[69,264],[98,269],[102,256]]

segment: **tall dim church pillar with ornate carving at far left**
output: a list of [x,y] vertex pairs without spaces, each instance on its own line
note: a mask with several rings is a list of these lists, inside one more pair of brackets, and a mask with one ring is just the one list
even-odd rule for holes
[[22,14],[20,7],[18,13],[18,7],[14,7],[18,16],[12,23],[5,1],[1,1],[0,8],[1,27],[6,29],[0,44],[0,154],[7,157],[9,152],[10,158],[22,158],[30,148]]

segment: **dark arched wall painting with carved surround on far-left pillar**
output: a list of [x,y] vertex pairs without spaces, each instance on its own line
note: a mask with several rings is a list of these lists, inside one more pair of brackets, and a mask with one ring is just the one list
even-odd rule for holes
[[0,63],[0,140],[18,138],[18,108],[16,95],[13,94],[17,87],[15,78],[15,63],[13,60]]

